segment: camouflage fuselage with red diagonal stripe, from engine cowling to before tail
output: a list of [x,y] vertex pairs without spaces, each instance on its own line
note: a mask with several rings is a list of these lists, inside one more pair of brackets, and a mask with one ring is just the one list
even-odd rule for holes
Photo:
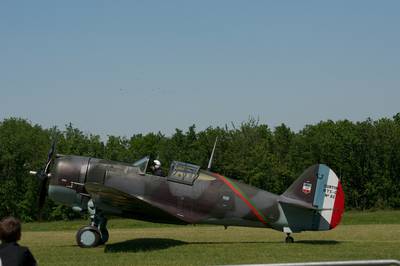
[[280,216],[278,195],[215,173],[200,170],[187,184],[77,156],[55,161],[49,195],[82,209],[92,198],[105,213],[152,222],[272,227]]

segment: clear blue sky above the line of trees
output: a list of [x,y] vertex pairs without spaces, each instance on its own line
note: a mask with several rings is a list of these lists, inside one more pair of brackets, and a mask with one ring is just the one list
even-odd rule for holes
[[400,1],[1,1],[0,119],[131,136],[400,112]]

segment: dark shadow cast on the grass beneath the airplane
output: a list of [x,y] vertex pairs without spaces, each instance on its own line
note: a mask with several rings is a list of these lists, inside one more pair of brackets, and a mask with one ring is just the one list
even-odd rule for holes
[[[124,242],[107,244],[104,248],[105,253],[118,253],[118,252],[144,252],[144,251],[155,251],[168,249],[183,245],[226,245],[226,244],[276,244],[276,242],[268,241],[219,241],[219,242],[185,242],[176,239],[168,238],[138,238],[133,240],[127,240]],[[298,244],[308,245],[337,245],[340,244],[334,240],[303,240],[296,241]]]

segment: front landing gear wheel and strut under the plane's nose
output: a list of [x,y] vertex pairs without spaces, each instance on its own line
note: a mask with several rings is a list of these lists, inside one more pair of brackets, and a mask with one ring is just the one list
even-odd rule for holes
[[108,241],[107,219],[94,207],[92,200],[88,202],[90,225],[84,226],[76,233],[76,243],[82,248],[93,248]]

